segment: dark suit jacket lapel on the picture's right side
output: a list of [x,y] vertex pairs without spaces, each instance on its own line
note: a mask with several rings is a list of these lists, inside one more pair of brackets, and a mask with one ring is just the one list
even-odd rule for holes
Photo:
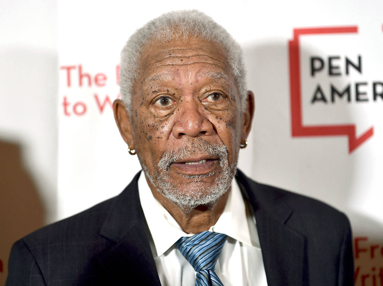
[[286,224],[293,210],[240,171],[237,181],[255,214],[268,285],[302,285],[305,237]]

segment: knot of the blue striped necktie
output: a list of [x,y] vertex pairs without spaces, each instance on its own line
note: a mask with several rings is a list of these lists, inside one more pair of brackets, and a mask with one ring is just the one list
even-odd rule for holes
[[191,237],[181,237],[176,246],[195,271],[214,270],[226,239],[226,234],[204,231]]

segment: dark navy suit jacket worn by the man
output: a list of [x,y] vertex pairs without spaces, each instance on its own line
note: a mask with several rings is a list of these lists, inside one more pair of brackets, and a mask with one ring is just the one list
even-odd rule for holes
[[[6,285],[160,285],[138,177],[119,196],[18,240]],[[240,171],[236,179],[255,213],[268,285],[353,284],[344,214]]]

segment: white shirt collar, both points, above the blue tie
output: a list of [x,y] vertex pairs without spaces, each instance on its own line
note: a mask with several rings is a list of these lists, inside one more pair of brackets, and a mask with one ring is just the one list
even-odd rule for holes
[[[144,172],[141,172],[138,179],[138,192],[141,207],[155,247],[156,253],[153,253],[154,258],[165,253],[181,237],[193,235],[184,232],[172,215],[154,198],[147,184]],[[259,247],[255,226],[250,227],[253,230],[250,235],[250,223],[255,223],[254,216],[249,217],[246,215],[246,207],[241,191],[236,180],[233,178],[224,211],[216,224],[210,227],[209,231],[221,232],[247,245]]]

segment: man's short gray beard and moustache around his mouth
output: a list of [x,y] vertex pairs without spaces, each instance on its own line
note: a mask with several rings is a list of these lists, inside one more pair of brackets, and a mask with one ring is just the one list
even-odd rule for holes
[[[204,175],[183,175],[182,177],[191,179],[192,181],[185,185],[182,189],[177,188],[175,183],[169,176],[170,165],[192,155],[206,155],[218,158],[221,169],[218,176],[211,186],[206,187],[203,183],[205,178],[214,175],[214,171]],[[146,166],[142,164],[146,177],[160,191],[165,198],[173,204],[179,206],[184,212],[191,211],[196,206],[214,205],[218,199],[229,189],[232,179],[236,173],[237,164],[229,165],[228,148],[222,144],[209,144],[207,141],[197,138],[178,149],[170,149],[162,155],[158,168],[160,172],[155,171],[154,175],[150,175]]]

